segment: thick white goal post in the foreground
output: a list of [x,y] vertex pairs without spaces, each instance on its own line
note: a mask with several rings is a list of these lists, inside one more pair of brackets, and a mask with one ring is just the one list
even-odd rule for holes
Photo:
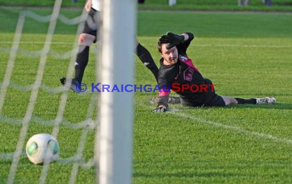
[[[101,84],[133,84],[136,1],[102,1],[99,59]],[[103,183],[132,182],[133,94],[99,94],[97,178]],[[99,144],[97,144],[99,142]]]

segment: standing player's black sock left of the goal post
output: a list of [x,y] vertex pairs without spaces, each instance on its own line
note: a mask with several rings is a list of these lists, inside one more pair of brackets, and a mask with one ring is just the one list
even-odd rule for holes
[[86,45],[78,46],[78,54],[75,61],[75,77],[78,82],[82,81],[85,68],[89,59],[89,47]]

